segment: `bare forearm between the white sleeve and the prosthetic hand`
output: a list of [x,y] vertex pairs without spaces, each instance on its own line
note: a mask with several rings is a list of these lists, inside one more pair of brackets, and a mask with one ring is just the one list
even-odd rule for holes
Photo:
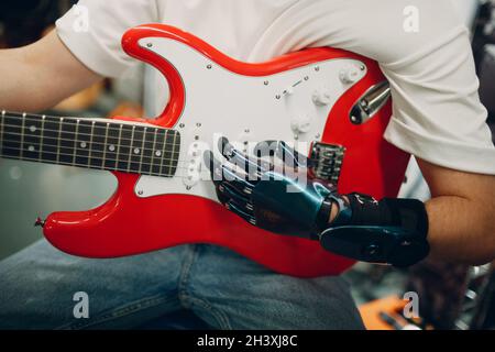
[[495,256],[495,176],[419,161],[432,199],[426,204],[431,255],[484,264]]

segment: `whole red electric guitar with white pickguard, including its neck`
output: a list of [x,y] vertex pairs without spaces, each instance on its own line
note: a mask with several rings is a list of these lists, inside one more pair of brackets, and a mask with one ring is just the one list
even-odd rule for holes
[[43,221],[53,245],[116,257],[212,243],[299,277],[339,274],[353,264],[318,242],[260,230],[227,211],[202,154],[216,135],[244,150],[285,141],[317,161],[312,172],[341,193],[396,196],[409,155],[383,139],[389,88],[375,62],[326,47],[246,64],[162,24],[130,30],[122,45],[168,81],[170,99],[156,119],[1,112],[2,157],[106,169],[119,180],[105,205]]

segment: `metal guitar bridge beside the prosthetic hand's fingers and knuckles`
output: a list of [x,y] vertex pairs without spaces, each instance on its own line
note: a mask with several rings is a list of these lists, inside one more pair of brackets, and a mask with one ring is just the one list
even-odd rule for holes
[[338,185],[345,148],[342,145],[315,143],[311,148],[310,170],[317,178]]

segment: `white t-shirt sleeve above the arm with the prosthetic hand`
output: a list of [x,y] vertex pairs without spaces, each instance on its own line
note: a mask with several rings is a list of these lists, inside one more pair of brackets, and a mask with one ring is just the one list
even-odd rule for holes
[[393,96],[385,139],[436,165],[495,175],[469,32],[460,24],[431,35],[419,51],[383,65]]

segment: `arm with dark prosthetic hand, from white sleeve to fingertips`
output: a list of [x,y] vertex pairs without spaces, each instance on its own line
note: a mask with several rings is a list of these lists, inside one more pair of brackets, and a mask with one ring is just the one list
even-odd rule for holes
[[[271,172],[267,164],[250,162],[228,141],[222,144],[228,163],[216,160],[212,153],[205,155],[219,200],[258,228],[318,239],[336,254],[396,266],[413,265],[429,253],[473,265],[495,258],[495,176],[420,161],[433,196],[426,205],[415,199],[377,201],[361,194],[340,195],[319,179],[307,179],[297,185],[299,191],[287,193],[287,187],[294,187],[290,176]],[[293,158],[289,165],[302,160],[300,155],[294,158],[296,152],[283,142],[275,154],[285,162]],[[246,180],[248,172],[233,170],[232,163],[258,165],[260,177]]]

